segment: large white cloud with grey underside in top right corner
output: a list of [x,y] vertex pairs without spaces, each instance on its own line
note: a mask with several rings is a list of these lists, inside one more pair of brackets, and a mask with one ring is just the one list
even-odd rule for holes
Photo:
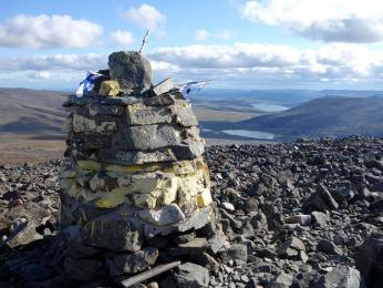
[[383,41],[383,2],[375,0],[263,0],[240,8],[245,19],[325,42]]

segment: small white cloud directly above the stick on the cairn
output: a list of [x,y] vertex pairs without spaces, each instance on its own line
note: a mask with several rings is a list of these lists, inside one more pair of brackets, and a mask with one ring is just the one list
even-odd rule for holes
[[163,32],[166,17],[155,7],[142,4],[139,8],[132,7],[123,12],[123,19],[151,31]]

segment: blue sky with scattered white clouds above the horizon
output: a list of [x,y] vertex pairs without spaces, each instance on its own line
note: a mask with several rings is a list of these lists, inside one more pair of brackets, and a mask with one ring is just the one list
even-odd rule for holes
[[154,83],[383,90],[376,0],[0,1],[0,86],[74,91],[146,30]]

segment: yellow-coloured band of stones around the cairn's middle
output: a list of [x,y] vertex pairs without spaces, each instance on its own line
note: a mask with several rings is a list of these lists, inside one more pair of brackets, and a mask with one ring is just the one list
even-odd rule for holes
[[81,195],[87,202],[95,200],[99,208],[132,202],[145,208],[172,203],[182,208],[190,203],[206,207],[211,203],[210,176],[203,158],[128,166],[77,161],[77,166],[63,172],[61,177],[62,188],[71,197]]

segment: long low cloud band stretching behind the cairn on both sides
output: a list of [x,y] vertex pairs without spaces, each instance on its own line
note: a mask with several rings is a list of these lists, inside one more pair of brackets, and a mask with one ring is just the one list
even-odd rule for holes
[[[157,48],[147,53],[155,75],[176,81],[209,79],[227,81],[267,80],[271,83],[324,83],[374,81],[383,75],[383,51],[356,44],[325,44],[315,49],[287,45],[235,43]],[[0,75],[19,71],[50,71],[68,75],[106,68],[107,54],[55,54],[0,58]]]

